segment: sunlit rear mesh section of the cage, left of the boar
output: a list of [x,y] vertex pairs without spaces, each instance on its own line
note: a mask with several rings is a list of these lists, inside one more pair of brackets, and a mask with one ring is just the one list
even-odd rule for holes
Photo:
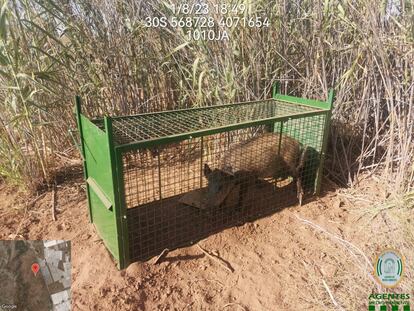
[[200,139],[123,155],[127,208],[199,187]]

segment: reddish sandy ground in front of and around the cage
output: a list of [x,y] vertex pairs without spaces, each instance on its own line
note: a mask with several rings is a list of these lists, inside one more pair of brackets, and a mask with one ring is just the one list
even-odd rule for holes
[[[118,271],[89,223],[81,172],[57,187],[57,220],[50,192],[36,197],[0,190],[1,239],[72,241],[73,310],[367,310],[373,277],[385,248],[406,259],[392,292],[413,293],[413,209],[381,209],[382,181],[335,189],[267,218],[226,229],[197,245]],[[388,290],[389,291],[389,290]],[[413,302],[412,302],[413,303]]]

